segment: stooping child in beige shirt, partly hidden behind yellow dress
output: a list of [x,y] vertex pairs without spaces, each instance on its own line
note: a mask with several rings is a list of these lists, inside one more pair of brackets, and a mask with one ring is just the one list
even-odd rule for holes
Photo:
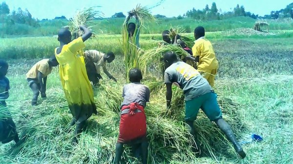
[[115,55],[112,52],[103,54],[97,50],[88,50],[84,52],[85,56],[85,68],[89,81],[94,85],[99,83],[102,79],[101,67],[103,67],[104,73],[110,78],[117,82],[116,78],[108,72],[106,63],[111,63],[115,59]]

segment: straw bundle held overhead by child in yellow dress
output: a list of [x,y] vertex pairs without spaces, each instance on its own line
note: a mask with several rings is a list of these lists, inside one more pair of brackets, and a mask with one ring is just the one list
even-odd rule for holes
[[[87,26],[88,29],[92,30],[93,26],[89,26],[93,23],[92,20],[94,18],[103,17],[103,13],[101,11],[98,11],[97,7],[90,7],[84,10],[78,10],[73,18],[70,18],[70,25],[69,30],[71,31],[73,39],[78,38],[79,36],[82,36],[84,32],[80,29],[81,25]],[[94,34],[94,31],[92,31]]]

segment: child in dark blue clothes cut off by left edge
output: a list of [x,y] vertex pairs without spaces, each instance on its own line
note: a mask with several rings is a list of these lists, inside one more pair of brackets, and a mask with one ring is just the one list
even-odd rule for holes
[[14,140],[19,142],[19,136],[16,131],[15,123],[12,120],[10,112],[6,108],[6,101],[9,97],[9,80],[6,76],[8,63],[0,59],[0,143],[6,144]]

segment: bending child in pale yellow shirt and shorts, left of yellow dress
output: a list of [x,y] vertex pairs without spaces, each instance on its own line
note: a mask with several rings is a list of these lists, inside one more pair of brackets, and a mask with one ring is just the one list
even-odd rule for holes
[[46,97],[47,76],[52,73],[53,67],[56,67],[58,62],[56,57],[50,59],[42,59],[37,62],[27,73],[26,79],[29,87],[33,91],[32,106],[37,105],[38,96],[41,92],[41,97]]

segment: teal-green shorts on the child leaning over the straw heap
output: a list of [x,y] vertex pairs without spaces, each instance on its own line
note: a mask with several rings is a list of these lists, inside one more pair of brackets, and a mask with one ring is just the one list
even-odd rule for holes
[[196,120],[199,109],[205,112],[210,121],[217,121],[222,118],[222,112],[215,92],[209,92],[185,101],[185,120]]

